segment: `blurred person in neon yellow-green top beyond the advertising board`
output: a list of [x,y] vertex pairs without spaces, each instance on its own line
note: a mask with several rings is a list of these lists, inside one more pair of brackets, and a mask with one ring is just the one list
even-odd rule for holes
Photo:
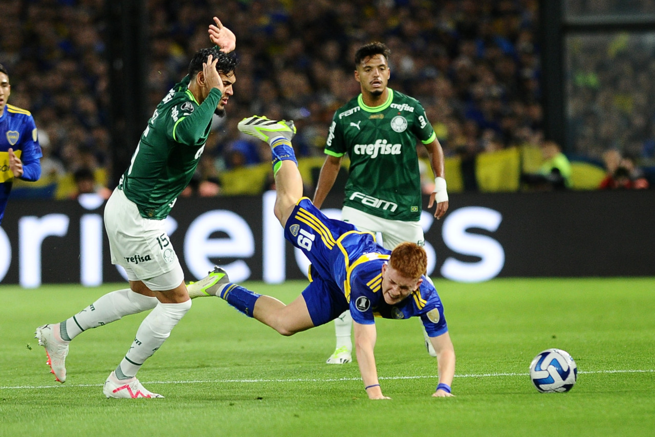
[[524,173],[521,182],[535,191],[563,190],[571,187],[571,162],[562,153],[559,144],[544,141],[541,144],[544,158],[537,173]]

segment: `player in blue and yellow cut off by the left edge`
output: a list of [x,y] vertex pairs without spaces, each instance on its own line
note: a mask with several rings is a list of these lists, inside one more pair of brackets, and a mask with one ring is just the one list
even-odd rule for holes
[[9,73],[0,64],[0,223],[14,179],[39,180],[43,156],[31,113],[7,104],[10,92]]

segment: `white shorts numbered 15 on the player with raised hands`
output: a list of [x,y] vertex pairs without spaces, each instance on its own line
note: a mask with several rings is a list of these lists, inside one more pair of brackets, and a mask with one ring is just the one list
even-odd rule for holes
[[184,280],[164,220],[141,217],[136,204],[115,189],[105,205],[105,229],[111,263],[121,265],[129,280],[142,281],[150,290],[167,291]]

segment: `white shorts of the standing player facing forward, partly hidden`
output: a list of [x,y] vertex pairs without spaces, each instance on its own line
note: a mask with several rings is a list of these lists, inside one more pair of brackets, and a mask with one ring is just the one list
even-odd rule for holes
[[360,231],[381,233],[382,245],[388,250],[394,250],[398,244],[405,241],[416,243],[419,246],[425,245],[423,229],[418,221],[383,219],[350,206],[343,207],[341,219],[355,225]]

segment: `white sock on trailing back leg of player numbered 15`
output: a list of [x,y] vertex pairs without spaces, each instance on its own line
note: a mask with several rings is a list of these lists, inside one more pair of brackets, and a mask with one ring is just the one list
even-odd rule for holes
[[60,324],[62,338],[72,340],[90,328],[115,322],[122,316],[141,313],[157,306],[157,297],[144,296],[125,288],[107,293]]

